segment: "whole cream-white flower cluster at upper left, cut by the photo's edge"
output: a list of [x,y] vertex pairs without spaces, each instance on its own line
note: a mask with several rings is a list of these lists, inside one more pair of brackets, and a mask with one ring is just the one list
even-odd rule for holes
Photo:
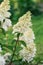
[[8,27],[12,26],[11,20],[9,19],[11,16],[9,10],[10,10],[9,0],[4,0],[0,4],[0,22],[1,22],[1,27],[5,31],[8,30]]

